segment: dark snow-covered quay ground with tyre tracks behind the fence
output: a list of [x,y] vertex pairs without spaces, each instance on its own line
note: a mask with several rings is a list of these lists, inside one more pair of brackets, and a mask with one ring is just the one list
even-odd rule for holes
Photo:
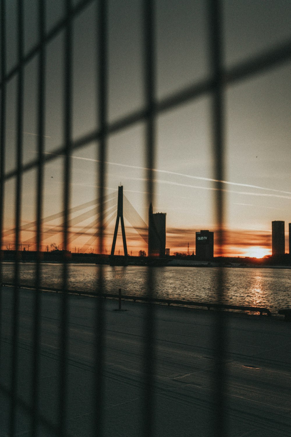
[[[18,388],[31,402],[33,296],[21,290]],[[61,295],[41,295],[39,436],[55,435]],[[96,299],[69,296],[67,430],[92,435]],[[143,353],[146,305],[105,302],[104,435],[136,437],[143,424]],[[1,386],[11,382],[11,289],[2,292]],[[209,436],[215,374],[213,313],[155,308],[155,436]],[[291,325],[267,316],[228,316],[227,419],[229,436],[291,436]],[[9,398],[0,392],[0,436],[9,434]],[[16,435],[28,436],[30,418],[19,405]]]

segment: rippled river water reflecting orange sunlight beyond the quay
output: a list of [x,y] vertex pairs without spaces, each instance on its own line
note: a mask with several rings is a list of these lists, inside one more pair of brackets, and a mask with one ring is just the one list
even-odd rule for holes
[[[42,264],[42,286],[61,288],[62,265]],[[3,281],[13,281],[11,263],[3,263]],[[216,267],[156,267],[156,295],[161,298],[215,302]],[[35,264],[21,264],[21,284],[33,284]],[[94,291],[98,266],[69,264],[69,288]],[[107,293],[143,295],[146,267],[104,266]],[[267,268],[226,268],[225,302],[232,305],[264,306],[273,313],[291,307],[291,270]]]

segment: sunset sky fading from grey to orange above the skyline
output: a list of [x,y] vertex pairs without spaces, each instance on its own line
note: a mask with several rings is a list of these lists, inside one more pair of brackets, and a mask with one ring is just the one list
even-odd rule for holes
[[[37,42],[36,2],[24,2],[24,47],[29,52]],[[77,0],[73,2],[78,3]],[[109,122],[142,108],[143,61],[140,0],[109,1]],[[16,0],[7,1],[7,71],[16,62]],[[156,98],[171,94],[209,77],[206,2],[158,0],[156,2]],[[62,1],[47,2],[47,30],[62,18]],[[225,0],[223,2],[224,64],[226,69],[267,49],[291,40],[289,0]],[[97,117],[96,3],[91,2],[75,18],[73,27],[73,139],[92,132]],[[64,35],[59,33],[46,50],[45,152],[54,153],[63,144]],[[37,58],[24,69],[24,163],[36,159],[37,150]],[[14,76],[7,87],[6,171],[15,168],[16,89]],[[263,74],[229,86],[225,93],[226,255],[271,254],[271,222],[284,220],[286,252],[288,222],[291,222],[291,63],[280,64]],[[203,95],[157,117],[156,197],[154,212],[166,212],[166,247],[195,253],[195,232],[216,230],[214,214],[214,165],[211,145],[211,96]],[[98,145],[97,145],[98,146]],[[73,152],[72,207],[97,196],[96,143]],[[63,157],[45,166],[44,217],[62,211]],[[108,140],[106,193],[120,183],[127,199],[147,223],[144,124],[127,128]],[[22,222],[35,220],[35,179],[31,170],[23,178]],[[14,222],[15,180],[5,184],[4,229]],[[81,211],[83,212],[83,211]],[[81,213],[79,212],[79,213]],[[76,214],[75,214],[76,215]],[[73,217],[75,216],[73,215]],[[78,232],[93,218],[72,228]],[[115,216],[106,229],[110,251]],[[60,219],[45,224],[45,229]],[[147,252],[146,244],[125,218],[128,252]],[[79,236],[72,243],[78,250],[90,238]],[[121,234],[121,232],[120,232]],[[33,237],[22,232],[21,240]],[[60,233],[43,244],[59,245]],[[5,245],[13,244],[6,237]],[[28,243],[27,243],[28,244]],[[96,242],[90,246],[96,250]],[[91,249],[89,249],[91,250]],[[89,251],[88,250],[88,251]],[[116,253],[123,253],[121,237]]]

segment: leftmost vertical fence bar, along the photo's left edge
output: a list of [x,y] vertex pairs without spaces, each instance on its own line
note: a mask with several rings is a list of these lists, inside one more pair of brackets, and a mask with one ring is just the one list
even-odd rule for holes
[[[1,78],[6,73],[6,8],[5,0],[0,3],[0,25],[1,25]],[[5,173],[5,131],[6,131],[6,82],[3,82],[1,90],[1,125],[0,125],[0,254],[2,253],[3,244],[3,206],[4,206],[4,173]],[[2,277],[2,256],[0,256],[0,284],[3,282]],[[2,333],[2,288],[0,288],[0,338]],[[0,362],[1,362],[0,347]]]

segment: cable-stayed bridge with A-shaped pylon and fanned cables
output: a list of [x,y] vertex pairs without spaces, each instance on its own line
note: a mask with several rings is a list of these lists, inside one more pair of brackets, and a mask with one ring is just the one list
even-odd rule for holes
[[[148,241],[148,227],[144,220],[140,217],[134,206],[130,203],[127,197],[123,194],[123,187],[118,187],[118,195],[116,196],[116,192],[107,194],[103,200],[103,230],[105,230],[110,223],[114,220],[114,218],[121,218],[122,222],[122,232],[124,233],[125,238],[125,230],[123,224],[123,216],[127,219],[130,225],[137,231],[140,235],[140,238],[147,243]],[[122,196],[122,204],[123,208],[120,209],[120,193]],[[88,209],[89,208],[89,209]],[[85,211],[84,211],[85,210]],[[121,217],[120,217],[121,212]],[[76,239],[80,236],[87,237],[86,243],[83,244],[81,248],[79,248],[79,253],[86,253],[92,245],[96,242],[96,239],[100,236],[100,213],[101,213],[101,202],[99,198],[96,198],[92,201],[88,201],[82,203],[81,205],[77,205],[73,208],[69,209],[69,215],[73,215],[72,218],[68,220],[68,246],[70,246]],[[64,211],[60,211],[58,213],[48,215],[45,218],[42,218],[41,223],[44,228],[41,235],[41,244],[46,244],[47,240],[51,237],[57,236],[58,234],[63,232],[64,223],[62,222],[62,218],[64,217]],[[92,221],[88,222],[88,220],[92,218]],[[52,225],[50,227],[50,222],[54,222],[57,219],[61,219],[60,224]],[[117,222],[117,220],[116,220]],[[82,226],[83,224],[83,226]],[[73,231],[73,228],[78,225],[81,226],[77,232]],[[115,226],[115,232],[113,236],[113,240],[116,241],[116,235],[118,230]],[[34,235],[21,242],[21,246],[29,246],[31,249],[36,249],[37,244],[37,235],[36,235],[36,221],[26,223],[20,227],[20,231],[32,232]],[[93,233],[92,233],[93,232]],[[3,237],[11,236],[14,239],[15,229],[9,229],[3,232]],[[84,239],[84,238],[83,238]],[[12,248],[13,246],[10,245]],[[114,243],[115,247],[115,243]],[[124,239],[123,239],[123,247],[124,247]],[[126,247],[126,243],[125,243]],[[59,250],[63,250],[63,243],[59,244]],[[14,247],[15,249],[15,247]],[[20,249],[20,248],[18,248]],[[112,253],[112,251],[111,251]],[[124,252],[125,253],[125,252]],[[113,253],[114,254],[114,250]]]

